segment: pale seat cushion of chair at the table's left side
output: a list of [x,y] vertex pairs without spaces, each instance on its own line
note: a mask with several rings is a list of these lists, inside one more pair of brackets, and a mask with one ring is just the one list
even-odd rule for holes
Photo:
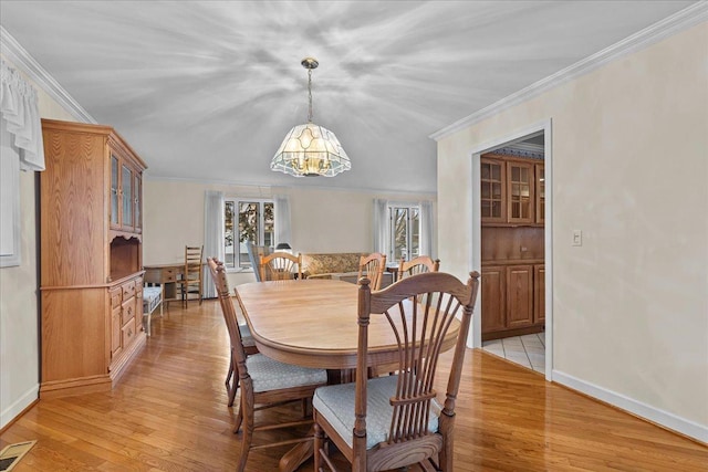
[[246,366],[253,380],[253,391],[256,392],[327,382],[327,371],[324,369],[293,366],[271,359],[262,354],[248,356]]

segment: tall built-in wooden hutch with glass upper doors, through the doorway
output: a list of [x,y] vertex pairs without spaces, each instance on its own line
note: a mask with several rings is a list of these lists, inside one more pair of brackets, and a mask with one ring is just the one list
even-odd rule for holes
[[482,340],[545,327],[542,159],[480,159]]

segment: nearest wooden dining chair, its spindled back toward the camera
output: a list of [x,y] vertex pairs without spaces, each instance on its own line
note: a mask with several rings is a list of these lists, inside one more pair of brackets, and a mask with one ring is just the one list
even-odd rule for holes
[[[457,398],[467,334],[479,274],[467,284],[454,275],[412,275],[382,291],[367,279],[358,294],[356,380],[315,390],[314,470],[336,471],[330,442],[354,471],[382,471],[420,463],[423,470],[451,472]],[[435,374],[448,331],[460,316],[444,403],[437,400]],[[389,326],[398,342],[398,374],[367,377],[368,326]],[[452,332],[454,333],[454,332]]]

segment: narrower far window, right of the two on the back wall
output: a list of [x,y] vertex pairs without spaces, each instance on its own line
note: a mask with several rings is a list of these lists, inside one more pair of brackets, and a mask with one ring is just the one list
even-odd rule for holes
[[420,255],[420,207],[417,204],[388,206],[391,252],[389,262],[409,261]]

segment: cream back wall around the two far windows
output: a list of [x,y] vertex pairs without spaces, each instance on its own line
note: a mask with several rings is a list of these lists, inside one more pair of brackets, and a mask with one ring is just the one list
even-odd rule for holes
[[[227,198],[271,198],[275,193],[290,196],[292,241],[289,242],[293,251],[303,253],[371,252],[374,198],[414,202],[435,200],[435,196],[428,193],[372,193],[150,180],[149,168],[145,177],[143,262],[146,265],[183,261],[185,244],[204,244],[206,190],[223,191]],[[229,273],[231,285],[253,281],[252,272]]]

